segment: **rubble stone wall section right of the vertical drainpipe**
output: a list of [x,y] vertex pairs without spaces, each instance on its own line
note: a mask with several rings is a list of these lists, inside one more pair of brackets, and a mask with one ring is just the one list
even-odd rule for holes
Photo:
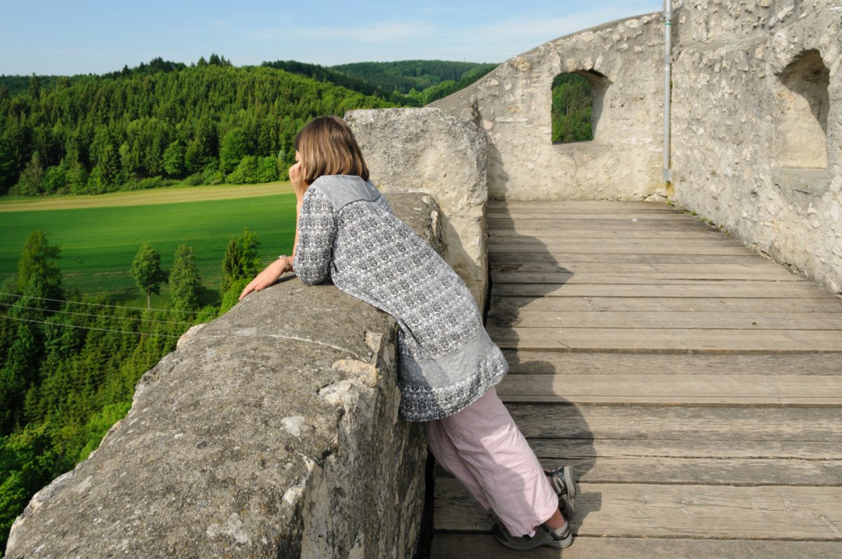
[[842,2],[675,15],[674,199],[842,292]]

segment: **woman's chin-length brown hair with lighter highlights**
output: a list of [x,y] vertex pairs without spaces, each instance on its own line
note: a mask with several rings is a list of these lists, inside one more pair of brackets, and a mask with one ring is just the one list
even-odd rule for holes
[[311,120],[296,136],[296,152],[304,170],[304,182],[312,184],[322,175],[348,174],[368,180],[363,152],[349,125],[335,116]]

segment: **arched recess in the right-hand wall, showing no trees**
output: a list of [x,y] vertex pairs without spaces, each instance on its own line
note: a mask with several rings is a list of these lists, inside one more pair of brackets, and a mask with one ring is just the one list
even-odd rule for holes
[[830,72],[818,51],[805,51],[778,74],[773,167],[823,169],[828,165]]

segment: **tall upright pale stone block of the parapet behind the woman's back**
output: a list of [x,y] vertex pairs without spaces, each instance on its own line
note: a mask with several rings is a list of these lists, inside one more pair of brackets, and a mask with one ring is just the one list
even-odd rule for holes
[[371,180],[384,193],[422,191],[439,203],[443,257],[482,310],[488,296],[486,139],[440,109],[369,109],[345,114]]

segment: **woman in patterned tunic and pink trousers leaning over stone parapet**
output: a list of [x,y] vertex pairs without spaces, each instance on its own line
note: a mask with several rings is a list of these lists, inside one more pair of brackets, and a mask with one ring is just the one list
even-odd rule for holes
[[543,471],[497,397],[494,386],[509,367],[470,292],[392,215],[343,120],[313,120],[295,147],[293,257],[269,264],[240,299],[295,271],[306,285],[329,277],[340,290],[395,317],[402,417],[424,422],[436,460],[502,520],[503,526],[493,527],[501,543],[514,549],[569,546],[565,516],[573,516],[573,470]]

